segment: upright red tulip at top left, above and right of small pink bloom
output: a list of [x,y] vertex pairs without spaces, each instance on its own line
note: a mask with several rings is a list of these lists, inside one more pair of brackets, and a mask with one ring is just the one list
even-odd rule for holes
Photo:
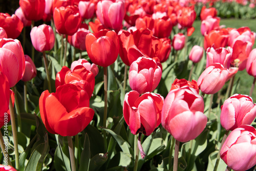
[[55,8],[53,20],[59,34],[73,35],[79,29],[82,18],[77,6]]

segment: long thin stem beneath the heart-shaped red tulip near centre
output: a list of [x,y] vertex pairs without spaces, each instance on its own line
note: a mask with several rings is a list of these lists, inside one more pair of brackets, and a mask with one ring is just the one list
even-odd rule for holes
[[[108,113],[108,67],[103,67],[104,70],[104,115],[103,115],[103,127],[106,127],[106,117]],[[104,147],[106,149],[106,131],[103,130]]]

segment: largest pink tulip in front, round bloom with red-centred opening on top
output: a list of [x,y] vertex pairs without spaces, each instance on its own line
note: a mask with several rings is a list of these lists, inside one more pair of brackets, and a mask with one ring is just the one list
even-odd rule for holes
[[166,96],[162,109],[162,126],[177,141],[186,142],[199,136],[207,123],[204,100],[188,86],[174,89]]

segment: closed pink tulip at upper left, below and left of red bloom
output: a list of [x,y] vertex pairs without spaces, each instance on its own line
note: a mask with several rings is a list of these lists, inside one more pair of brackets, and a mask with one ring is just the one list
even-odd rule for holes
[[51,26],[46,24],[33,27],[30,37],[35,50],[39,52],[50,51],[55,42],[55,36]]

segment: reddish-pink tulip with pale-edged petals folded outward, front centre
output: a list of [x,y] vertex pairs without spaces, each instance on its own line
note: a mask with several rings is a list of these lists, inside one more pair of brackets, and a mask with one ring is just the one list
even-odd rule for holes
[[151,135],[161,123],[164,98],[160,94],[136,91],[126,93],[123,101],[123,117],[131,133]]

